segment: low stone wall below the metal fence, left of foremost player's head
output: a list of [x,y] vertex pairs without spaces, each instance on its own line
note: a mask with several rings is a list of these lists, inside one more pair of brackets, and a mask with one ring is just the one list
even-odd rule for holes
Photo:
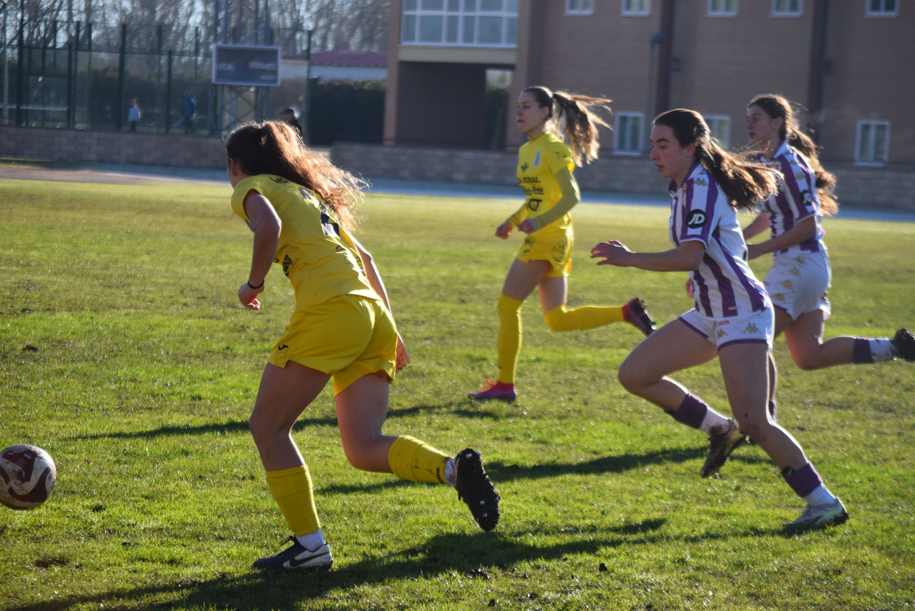
[[221,137],[0,125],[0,155],[142,166],[225,167]]

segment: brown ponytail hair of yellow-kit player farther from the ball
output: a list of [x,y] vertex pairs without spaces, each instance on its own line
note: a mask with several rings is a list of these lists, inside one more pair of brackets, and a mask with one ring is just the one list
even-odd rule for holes
[[610,100],[575,95],[567,91],[550,91],[545,87],[528,87],[522,93],[533,93],[537,105],[549,109],[547,121],[555,117],[556,132],[572,143],[576,166],[581,166],[582,156],[587,163],[597,159],[600,150],[597,144],[597,125],[609,127],[597,114],[597,110],[609,111]]

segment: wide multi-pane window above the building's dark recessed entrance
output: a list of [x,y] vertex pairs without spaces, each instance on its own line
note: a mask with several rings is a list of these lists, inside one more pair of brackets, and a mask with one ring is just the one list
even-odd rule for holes
[[514,48],[518,0],[404,0],[401,43]]

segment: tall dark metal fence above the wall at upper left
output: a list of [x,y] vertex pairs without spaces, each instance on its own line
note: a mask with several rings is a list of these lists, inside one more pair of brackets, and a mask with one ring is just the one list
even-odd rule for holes
[[[4,124],[195,134],[217,133],[223,124],[211,82],[210,28],[23,21],[6,12],[0,23]],[[234,29],[229,41],[248,34]],[[263,38],[296,54],[307,31],[272,28]],[[133,100],[135,124],[128,121]]]

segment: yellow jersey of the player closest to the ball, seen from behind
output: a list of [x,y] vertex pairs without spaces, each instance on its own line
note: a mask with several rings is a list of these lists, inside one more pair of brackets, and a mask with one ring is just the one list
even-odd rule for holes
[[369,284],[355,244],[317,193],[270,174],[247,177],[231,196],[231,209],[245,222],[244,198],[251,191],[269,199],[283,223],[274,263],[283,267],[296,290],[296,309],[338,295],[380,299]]

